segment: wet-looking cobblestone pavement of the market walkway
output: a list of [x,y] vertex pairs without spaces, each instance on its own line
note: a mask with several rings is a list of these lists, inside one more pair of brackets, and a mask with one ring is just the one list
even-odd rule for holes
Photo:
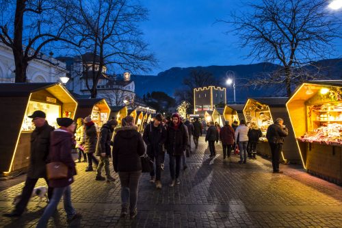
[[[77,164],[72,185],[73,205],[83,214],[70,227],[342,227],[342,188],[305,173],[299,166],[281,165],[284,174],[273,174],[272,164],[258,157],[237,164],[232,155],[223,160],[217,145],[209,158],[204,138],[187,160],[181,184],[168,187],[168,155],[162,173],[162,190],[140,180],[138,215],[120,219],[120,183],[94,181],[85,163]],[[0,213],[12,210],[25,175],[0,181]],[[37,186],[44,186],[44,180]],[[21,218],[0,217],[0,227],[35,227],[46,203],[31,199]],[[49,227],[67,227],[63,203],[49,221]]]

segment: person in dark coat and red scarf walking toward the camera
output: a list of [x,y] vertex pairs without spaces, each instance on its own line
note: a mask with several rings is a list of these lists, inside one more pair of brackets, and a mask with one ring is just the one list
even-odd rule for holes
[[[171,183],[170,187],[174,186],[174,183],[179,184],[179,173],[181,170],[181,156],[187,149],[189,138],[187,136],[187,129],[181,121],[181,117],[178,113],[172,114],[172,121],[166,131],[166,150],[170,157],[170,175]],[[176,169],[174,166],[176,165]]]

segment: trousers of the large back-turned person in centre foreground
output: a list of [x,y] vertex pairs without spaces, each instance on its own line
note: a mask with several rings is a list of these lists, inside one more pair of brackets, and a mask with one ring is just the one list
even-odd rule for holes
[[120,172],[122,207],[129,208],[131,212],[137,208],[137,187],[139,186],[142,170],[134,172]]

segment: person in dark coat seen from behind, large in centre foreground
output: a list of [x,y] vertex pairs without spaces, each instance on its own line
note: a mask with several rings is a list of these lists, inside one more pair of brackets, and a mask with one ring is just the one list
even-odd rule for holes
[[140,156],[145,153],[144,140],[137,129],[132,116],[122,118],[122,127],[115,129],[112,156],[121,183],[121,217],[127,215],[128,206],[131,218],[137,216],[137,186],[142,175]]

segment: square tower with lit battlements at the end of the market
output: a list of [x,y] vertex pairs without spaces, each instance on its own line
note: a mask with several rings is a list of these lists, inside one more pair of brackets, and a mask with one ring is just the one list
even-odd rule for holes
[[213,111],[215,105],[226,104],[226,88],[206,86],[194,88],[194,114]]

